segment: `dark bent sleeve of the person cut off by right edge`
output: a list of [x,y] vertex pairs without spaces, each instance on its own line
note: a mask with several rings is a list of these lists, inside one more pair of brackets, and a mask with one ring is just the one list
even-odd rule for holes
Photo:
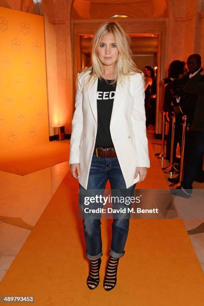
[[184,85],[183,90],[188,93],[202,94],[204,93],[204,81],[203,76],[200,73],[196,73],[191,77]]

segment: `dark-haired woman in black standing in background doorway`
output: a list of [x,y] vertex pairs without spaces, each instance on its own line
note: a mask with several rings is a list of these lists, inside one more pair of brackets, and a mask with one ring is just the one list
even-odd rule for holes
[[145,66],[143,69],[144,76],[145,76],[145,99],[144,99],[144,105],[145,105],[145,113],[146,113],[146,127],[149,126],[150,122],[150,101],[152,97],[152,85],[154,84],[154,70],[151,66]]

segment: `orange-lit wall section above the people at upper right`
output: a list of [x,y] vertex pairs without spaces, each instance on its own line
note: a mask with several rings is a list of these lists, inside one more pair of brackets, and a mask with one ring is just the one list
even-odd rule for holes
[[174,59],[185,60],[191,53],[200,53],[202,47],[203,15],[200,0],[168,0],[168,49],[170,63]]

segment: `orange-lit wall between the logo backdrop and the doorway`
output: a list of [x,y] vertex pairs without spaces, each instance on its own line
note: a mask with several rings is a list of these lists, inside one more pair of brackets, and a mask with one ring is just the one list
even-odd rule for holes
[[71,133],[73,116],[73,59],[71,42],[72,0],[44,0],[48,79],[49,133],[65,125]]

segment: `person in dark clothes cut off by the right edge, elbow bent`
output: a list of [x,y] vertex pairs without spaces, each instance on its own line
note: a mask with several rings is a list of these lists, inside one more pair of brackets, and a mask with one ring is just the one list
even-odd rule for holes
[[[183,87],[184,91],[191,94],[197,94],[194,116],[191,129],[195,131],[195,138],[192,143],[190,158],[186,164],[184,178],[181,187],[172,189],[173,194],[190,197],[192,193],[192,183],[203,171],[202,162],[204,154],[204,70],[198,71],[192,76]],[[202,172],[203,175],[203,172]]]

